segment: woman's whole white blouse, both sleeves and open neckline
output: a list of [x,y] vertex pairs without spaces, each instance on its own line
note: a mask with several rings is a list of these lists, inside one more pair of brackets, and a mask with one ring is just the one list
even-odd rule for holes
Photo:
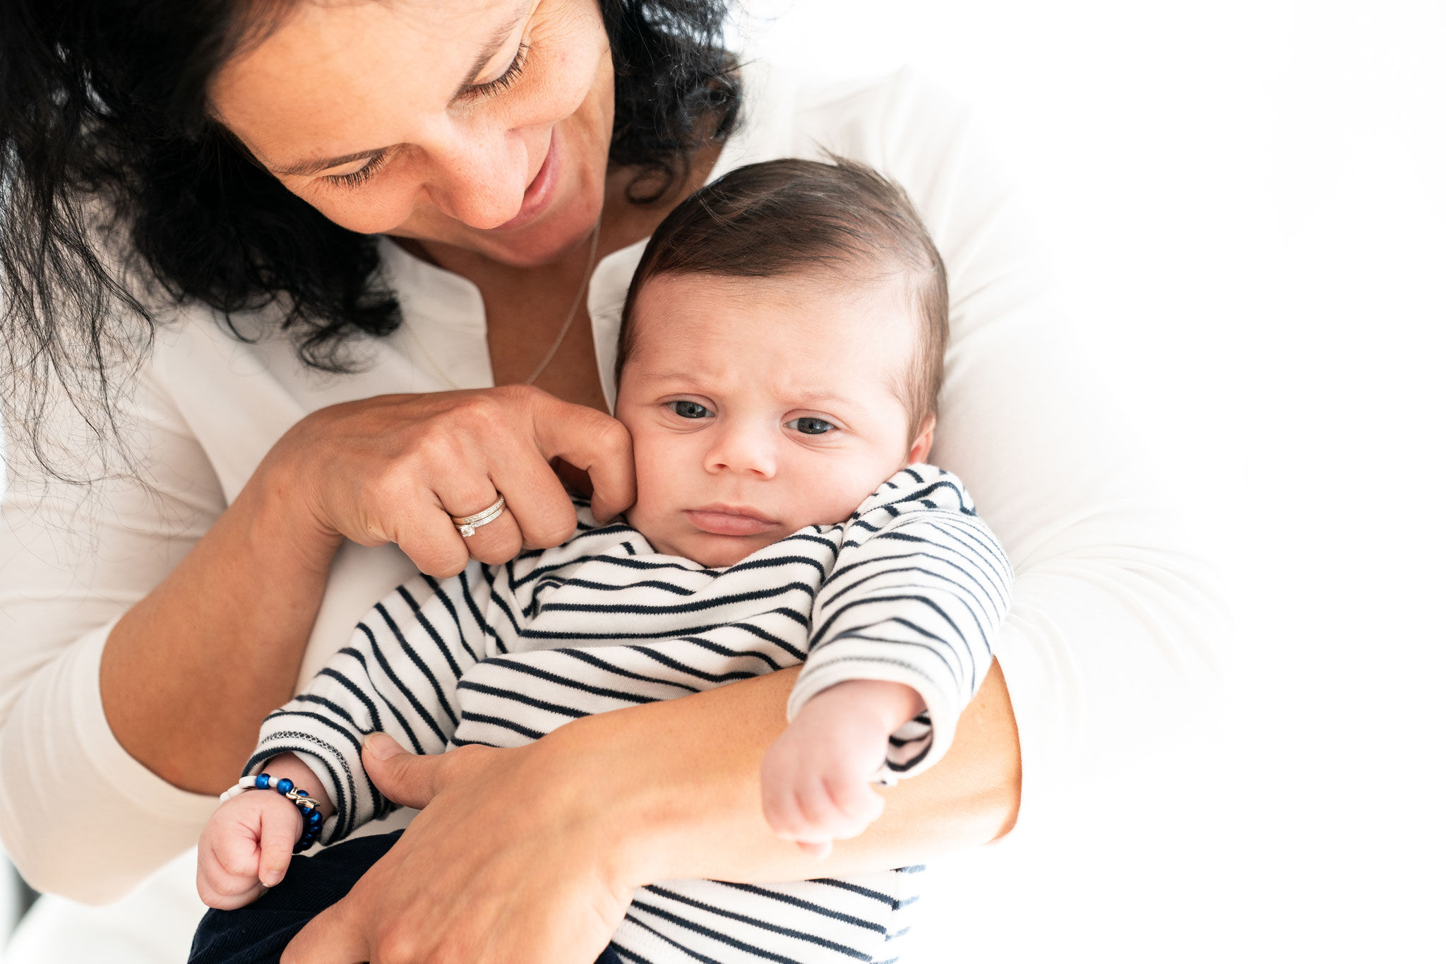
[[[1222,608],[1187,516],[1082,364],[976,123],[901,74],[807,90],[745,71],[743,124],[714,175],[834,152],[898,181],[949,264],[953,334],[930,461],[960,475],[1015,567],[996,658],[1014,702],[1024,809],[1080,765],[1180,718],[1213,678]],[[617,321],[639,241],[590,283],[612,397]],[[215,798],[179,791],[117,743],[100,700],[114,621],[161,582],[298,419],[395,392],[493,383],[480,292],[382,243],[405,322],[359,374],[305,369],[283,338],[243,344],[210,311],[162,330],[126,409],[146,486],[39,487],[12,473],[0,525],[0,840],[39,889],[116,899],[191,847]],[[54,429],[65,432],[56,406]],[[16,465],[22,452],[12,451]],[[414,568],[396,546],[343,546],[298,685]]]

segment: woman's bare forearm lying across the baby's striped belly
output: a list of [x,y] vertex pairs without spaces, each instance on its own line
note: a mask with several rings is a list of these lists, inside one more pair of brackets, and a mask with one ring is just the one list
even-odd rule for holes
[[[797,669],[607,713],[558,730],[570,759],[606,759],[609,808],[635,883],[707,877],[762,883],[918,863],[1009,831],[1019,806],[1019,741],[998,665],[928,772],[884,791],[884,817],[827,860],[763,819],[759,765],[784,730]],[[551,739],[551,737],[549,737]],[[617,747],[626,747],[619,752]]]

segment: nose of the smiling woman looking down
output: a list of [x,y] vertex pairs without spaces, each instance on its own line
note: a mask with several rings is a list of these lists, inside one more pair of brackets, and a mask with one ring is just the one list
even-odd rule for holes
[[431,152],[427,195],[438,211],[474,228],[509,221],[528,189],[526,145],[516,132],[457,124]]

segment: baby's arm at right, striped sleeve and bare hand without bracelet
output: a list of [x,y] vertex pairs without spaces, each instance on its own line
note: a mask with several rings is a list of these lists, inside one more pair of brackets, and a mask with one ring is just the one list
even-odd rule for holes
[[763,759],[763,815],[826,854],[884,809],[870,783],[933,766],[979,689],[1012,572],[951,474],[914,465],[849,522],[813,610],[790,726]]

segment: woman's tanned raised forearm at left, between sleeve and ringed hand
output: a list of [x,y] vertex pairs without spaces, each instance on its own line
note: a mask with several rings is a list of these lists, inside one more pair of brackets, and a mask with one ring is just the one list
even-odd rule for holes
[[172,574],[120,619],[100,688],[120,744],[166,782],[236,780],[292,694],[338,539],[259,471]]

